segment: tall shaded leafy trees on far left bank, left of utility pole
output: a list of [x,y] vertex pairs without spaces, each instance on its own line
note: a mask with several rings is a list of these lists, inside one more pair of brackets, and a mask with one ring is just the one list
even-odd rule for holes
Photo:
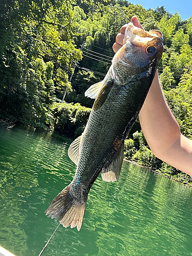
[[51,129],[51,104],[70,87],[72,61],[81,59],[72,2],[3,1],[0,9],[0,115]]

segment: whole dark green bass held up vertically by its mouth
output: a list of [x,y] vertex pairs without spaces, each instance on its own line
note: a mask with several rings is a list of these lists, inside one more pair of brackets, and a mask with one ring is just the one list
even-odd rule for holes
[[116,181],[123,162],[124,140],[134,124],[152,84],[163,52],[163,34],[127,24],[123,46],[114,55],[103,81],[85,96],[95,98],[82,135],[68,155],[77,165],[72,182],[51,202],[46,215],[63,227],[82,225],[88,193],[98,175]]

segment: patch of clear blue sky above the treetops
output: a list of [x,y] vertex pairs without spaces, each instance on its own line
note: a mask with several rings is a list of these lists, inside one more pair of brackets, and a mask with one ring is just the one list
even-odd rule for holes
[[160,0],[160,1],[152,1],[152,0],[130,0],[133,4],[141,4],[145,9],[148,8],[157,8],[162,5],[165,6],[165,9],[170,13],[175,13],[179,11],[182,19],[189,18],[192,15],[192,0]]

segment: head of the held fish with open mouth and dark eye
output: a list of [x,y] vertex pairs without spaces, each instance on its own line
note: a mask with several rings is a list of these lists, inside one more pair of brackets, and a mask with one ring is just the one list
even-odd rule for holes
[[[147,49],[151,48],[151,52]],[[159,63],[163,53],[163,34],[160,30],[145,31],[127,24],[123,46],[115,54],[112,64],[120,62],[123,66],[145,67],[152,59]]]

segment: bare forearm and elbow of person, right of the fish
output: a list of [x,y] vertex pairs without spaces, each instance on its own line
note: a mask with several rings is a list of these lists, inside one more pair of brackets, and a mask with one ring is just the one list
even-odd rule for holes
[[192,141],[181,135],[179,125],[163,97],[157,73],[139,119],[154,155],[192,176]]

